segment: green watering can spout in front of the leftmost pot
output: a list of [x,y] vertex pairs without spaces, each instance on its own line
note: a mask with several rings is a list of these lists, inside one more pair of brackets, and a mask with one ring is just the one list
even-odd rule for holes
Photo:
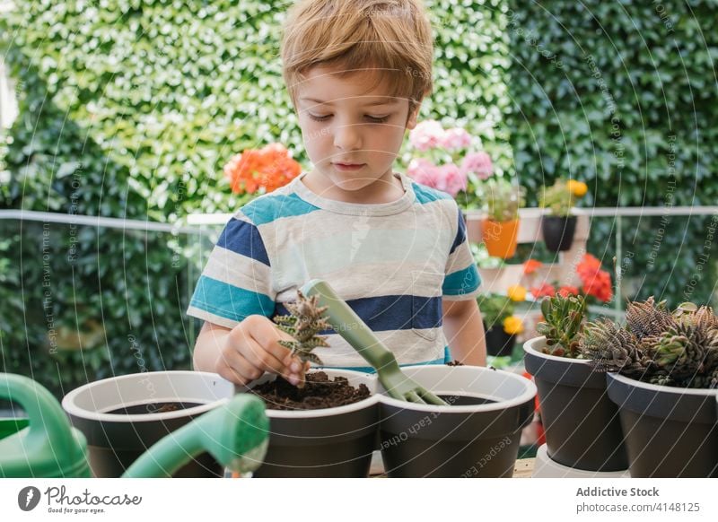
[[208,452],[233,472],[256,470],[267,453],[269,420],[257,396],[239,394],[173,431],[127,468],[123,477],[169,477]]

